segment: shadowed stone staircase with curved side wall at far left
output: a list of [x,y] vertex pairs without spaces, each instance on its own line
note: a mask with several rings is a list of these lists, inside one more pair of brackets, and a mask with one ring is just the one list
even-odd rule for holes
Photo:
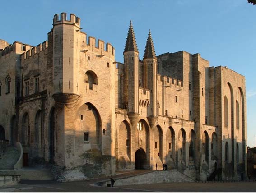
[[16,147],[7,147],[0,159],[0,170],[13,170],[19,156],[19,151]]

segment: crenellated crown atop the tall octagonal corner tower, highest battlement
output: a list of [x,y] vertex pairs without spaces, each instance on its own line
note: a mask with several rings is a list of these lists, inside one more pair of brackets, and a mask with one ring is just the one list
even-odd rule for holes
[[67,19],[66,13],[61,13],[61,18],[59,18],[58,14],[55,14],[53,17],[53,25],[59,25],[59,24],[69,24],[69,25],[75,25],[78,28],[80,28],[80,18],[76,17],[74,14],[70,14],[70,20]]

